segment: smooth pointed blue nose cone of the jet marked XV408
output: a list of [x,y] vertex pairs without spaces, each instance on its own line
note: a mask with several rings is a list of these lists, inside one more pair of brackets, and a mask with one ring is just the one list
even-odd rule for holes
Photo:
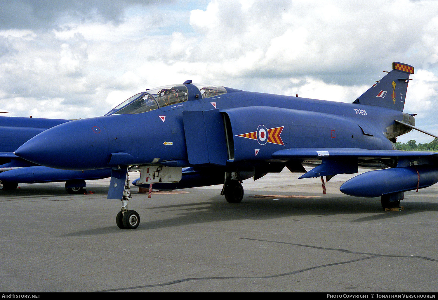
[[99,118],[70,121],[41,132],[14,153],[35,164],[50,168],[107,168],[108,134]]

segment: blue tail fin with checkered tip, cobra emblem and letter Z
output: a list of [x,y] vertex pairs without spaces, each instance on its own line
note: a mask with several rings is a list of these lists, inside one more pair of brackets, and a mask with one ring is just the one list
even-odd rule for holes
[[392,71],[388,72],[374,86],[363,93],[353,103],[392,108],[403,111],[408,88],[409,74],[413,74],[413,66],[399,62],[392,63]]

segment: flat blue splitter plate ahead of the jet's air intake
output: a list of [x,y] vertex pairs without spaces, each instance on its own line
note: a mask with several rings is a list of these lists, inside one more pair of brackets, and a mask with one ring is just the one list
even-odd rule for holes
[[219,109],[183,111],[183,122],[189,162],[224,166],[228,152],[225,126]]

